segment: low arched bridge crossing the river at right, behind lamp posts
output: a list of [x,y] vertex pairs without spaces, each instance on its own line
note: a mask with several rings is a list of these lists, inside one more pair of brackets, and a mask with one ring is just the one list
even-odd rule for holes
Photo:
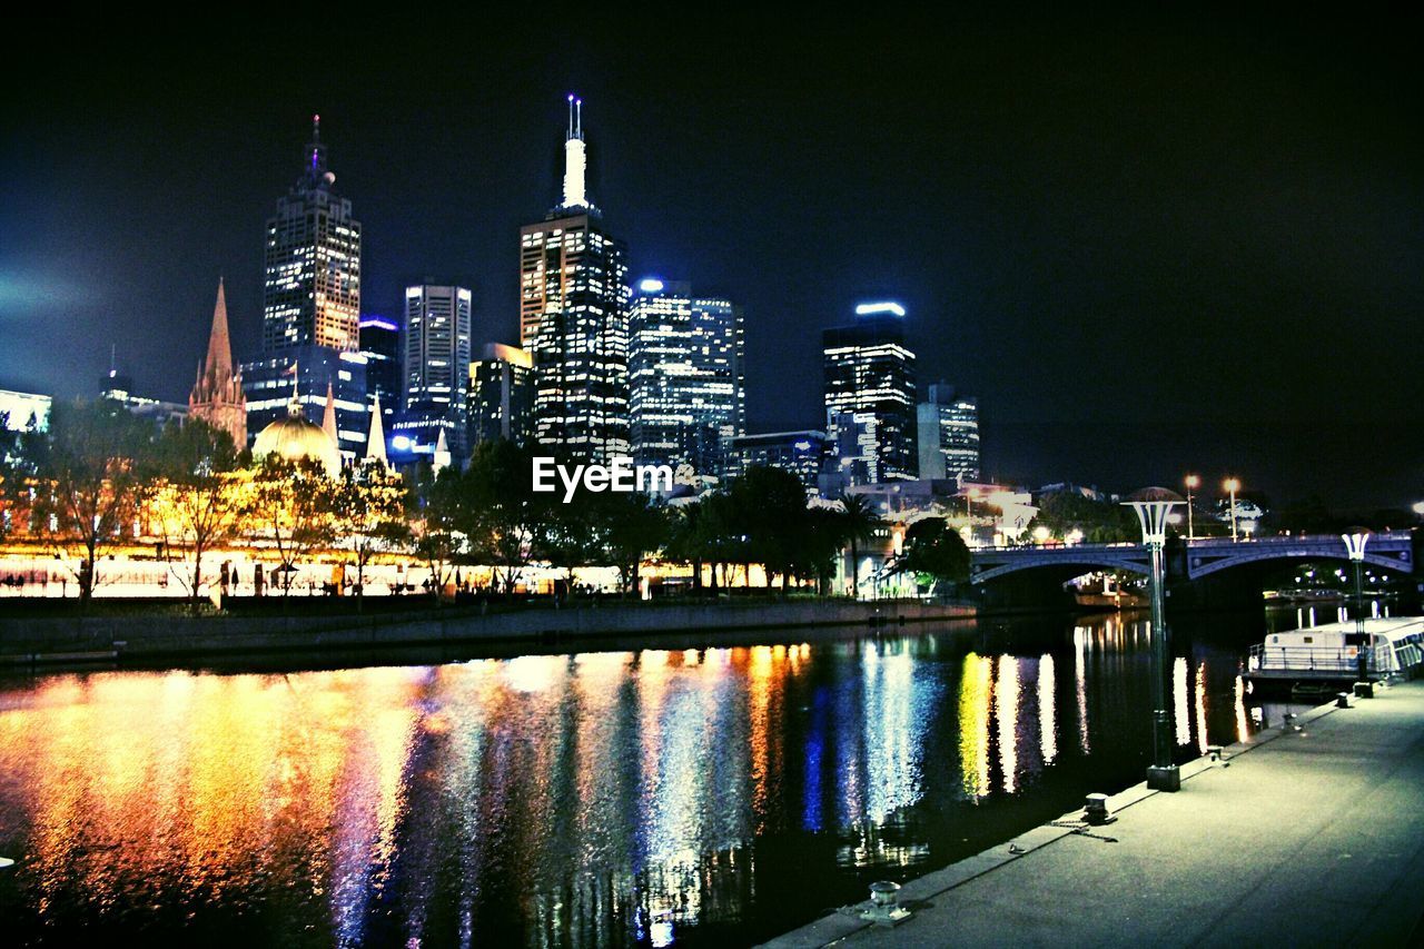
[[[1349,560],[1339,534],[1304,537],[1260,537],[1230,540],[1210,537],[1168,544],[1168,579],[1199,580],[1232,567],[1293,560]],[[1410,531],[1371,534],[1364,563],[1394,573],[1414,573],[1414,539]],[[1027,547],[980,547],[970,554],[970,580],[987,583],[1008,574],[1051,569],[1064,576],[1094,570],[1148,573],[1148,550],[1142,544],[1042,544]],[[1075,571],[1075,573],[1074,573]],[[1071,577],[1069,577],[1071,579]]]

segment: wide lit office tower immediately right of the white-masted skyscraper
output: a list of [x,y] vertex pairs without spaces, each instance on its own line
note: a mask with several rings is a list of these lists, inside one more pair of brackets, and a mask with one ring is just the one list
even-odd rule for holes
[[742,308],[645,279],[628,308],[628,408],[639,465],[721,476],[725,439],[746,427]]

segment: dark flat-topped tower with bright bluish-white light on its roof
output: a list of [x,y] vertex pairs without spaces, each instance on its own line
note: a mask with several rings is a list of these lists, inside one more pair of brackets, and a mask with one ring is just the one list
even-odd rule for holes
[[873,440],[853,483],[916,477],[914,353],[904,345],[904,308],[862,304],[854,323],[824,331],[822,349],[832,443],[846,442],[840,429],[847,416]]

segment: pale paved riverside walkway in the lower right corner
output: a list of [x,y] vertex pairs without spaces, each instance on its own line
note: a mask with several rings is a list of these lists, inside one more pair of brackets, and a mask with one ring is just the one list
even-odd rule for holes
[[1045,825],[911,881],[896,928],[842,911],[766,945],[1421,945],[1424,681],[1353,701],[1109,798],[1092,836]]

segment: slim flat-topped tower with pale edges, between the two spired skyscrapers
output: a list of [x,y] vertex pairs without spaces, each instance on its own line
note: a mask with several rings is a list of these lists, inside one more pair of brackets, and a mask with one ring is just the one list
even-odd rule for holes
[[413,450],[434,452],[440,432],[450,455],[464,459],[468,418],[471,294],[464,286],[406,288],[400,343],[400,412],[396,430]]

